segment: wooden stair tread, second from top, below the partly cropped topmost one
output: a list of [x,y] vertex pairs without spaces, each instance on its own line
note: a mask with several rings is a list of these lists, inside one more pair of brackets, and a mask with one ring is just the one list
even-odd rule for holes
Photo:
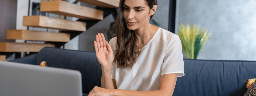
[[102,10],[72,4],[62,0],[41,1],[40,11],[77,17],[85,20],[103,20]]

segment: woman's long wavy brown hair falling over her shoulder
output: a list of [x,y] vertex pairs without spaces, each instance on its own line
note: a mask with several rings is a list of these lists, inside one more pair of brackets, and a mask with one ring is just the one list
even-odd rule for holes
[[[150,10],[154,5],[157,5],[157,0],[145,0],[146,4],[149,6]],[[123,4],[124,0],[120,0],[119,10],[116,18],[116,53],[114,62],[117,64],[117,67],[121,68],[132,68],[133,61],[136,58],[135,43],[138,38],[135,36],[133,30],[129,30],[124,22],[123,16]],[[149,10],[149,12],[150,12]],[[150,20],[153,15],[150,16]],[[130,62],[130,64],[128,64]]]

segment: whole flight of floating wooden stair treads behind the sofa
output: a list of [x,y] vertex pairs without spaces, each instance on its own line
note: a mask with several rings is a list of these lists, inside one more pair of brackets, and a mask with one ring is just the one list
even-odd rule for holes
[[[102,8],[117,8],[119,0],[77,0]],[[41,12],[55,13],[64,16],[76,17],[83,20],[103,20],[105,15],[102,10],[72,4],[62,0],[41,1]],[[104,15],[104,16],[103,16]],[[23,26],[52,28],[70,32],[86,31],[86,23],[41,15],[24,16]],[[51,42],[67,43],[72,37],[70,33],[44,32],[33,30],[7,30],[7,39],[45,41],[44,44],[0,42],[0,52],[39,52],[44,47],[55,47]],[[50,43],[49,43],[50,42]],[[0,55],[0,60],[5,60],[5,55]]]

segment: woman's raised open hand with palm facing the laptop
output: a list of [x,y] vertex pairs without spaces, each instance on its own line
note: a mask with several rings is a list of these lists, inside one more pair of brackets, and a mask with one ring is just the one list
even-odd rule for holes
[[101,67],[111,68],[112,62],[114,60],[113,51],[102,33],[98,33],[96,36],[96,41],[94,41],[94,48],[96,57],[98,58]]

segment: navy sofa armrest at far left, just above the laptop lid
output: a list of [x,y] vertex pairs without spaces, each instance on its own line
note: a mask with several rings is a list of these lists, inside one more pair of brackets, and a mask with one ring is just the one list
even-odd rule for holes
[[30,54],[30,55],[25,56],[23,58],[18,58],[18,59],[15,59],[15,60],[10,60],[8,62],[16,62],[16,63],[36,65],[36,55],[37,55],[37,53],[33,53],[33,54]]

